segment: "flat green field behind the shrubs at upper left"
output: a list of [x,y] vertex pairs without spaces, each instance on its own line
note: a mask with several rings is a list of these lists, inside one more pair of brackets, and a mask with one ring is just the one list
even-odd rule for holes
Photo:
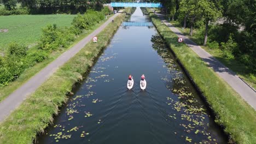
[[16,42],[27,46],[34,45],[40,39],[41,29],[48,24],[71,26],[75,15],[10,15],[0,16],[0,29],[9,29],[0,33],[0,51],[11,43]]

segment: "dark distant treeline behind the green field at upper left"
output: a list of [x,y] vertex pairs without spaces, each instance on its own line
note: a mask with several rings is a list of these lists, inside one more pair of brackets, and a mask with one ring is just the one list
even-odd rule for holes
[[[103,3],[108,2],[104,0],[0,0],[0,2],[1,1],[5,10],[2,9],[2,13],[3,11],[5,13],[2,15],[19,14],[19,9],[23,10],[21,14],[77,14],[85,13],[88,9],[101,10]],[[21,8],[16,8],[17,3],[21,4]]]

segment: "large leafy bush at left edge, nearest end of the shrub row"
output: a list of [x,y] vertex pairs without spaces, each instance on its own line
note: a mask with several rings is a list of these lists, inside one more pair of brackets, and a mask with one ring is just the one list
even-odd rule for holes
[[26,68],[37,62],[42,62],[47,57],[46,51],[27,52],[27,47],[24,45],[9,44],[7,54],[4,57],[0,56],[0,87],[8,85],[9,82],[19,77]]

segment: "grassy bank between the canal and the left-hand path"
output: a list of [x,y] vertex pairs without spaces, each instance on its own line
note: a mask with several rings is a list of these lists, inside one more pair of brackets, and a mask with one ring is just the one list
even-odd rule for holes
[[[126,11],[131,13],[131,8]],[[114,22],[97,35],[97,43],[91,41],[85,45],[0,124],[0,143],[36,142],[37,134],[44,132],[59,107],[68,100],[66,93],[83,79],[124,18],[124,14],[115,17]]]

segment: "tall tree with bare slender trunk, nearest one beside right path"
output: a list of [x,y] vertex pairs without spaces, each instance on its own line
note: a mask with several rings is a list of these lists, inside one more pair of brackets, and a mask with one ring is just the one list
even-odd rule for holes
[[212,1],[208,0],[202,0],[199,4],[201,6],[202,17],[205,22],[205,40],[203,41],[203,45],[205,46],[207,43],[209,22],[215,22],[217,18],[222,15],[222,13],[220,10],[217,9],[218,3],[213,3]]

